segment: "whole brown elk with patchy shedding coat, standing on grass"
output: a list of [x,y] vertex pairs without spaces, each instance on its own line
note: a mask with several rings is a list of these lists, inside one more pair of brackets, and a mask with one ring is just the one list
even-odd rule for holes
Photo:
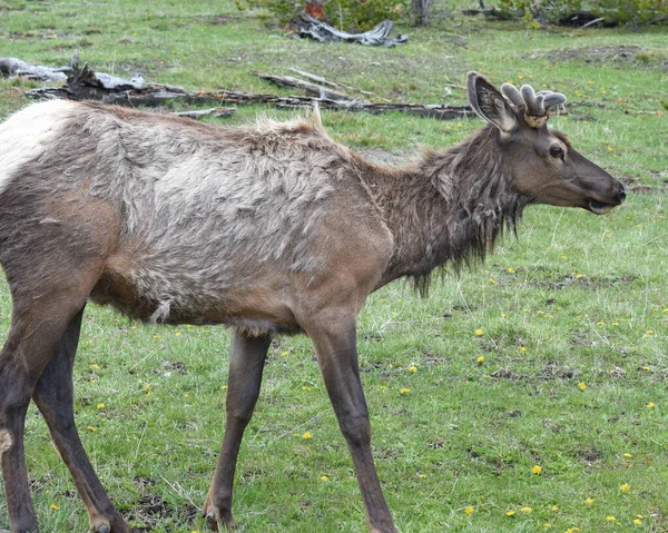
[[530,204],[605,214],[623,186],[550,130],[558,92],[468,77],[488,125],[404,168],[376,166],[310,120],[214,127],[48,101],[0,126],[0,455],[13,533],[36,532],[23,447],[30,399],[97,533],[130,531],[78,436],[72,368],[90,298],[149,323],[233,328],[226,428],[204,503],[233,529],[233,478],[275,335],[303,333],[347,442],[373,533],[395,532],[371,453],[356,317],[374,290],[483,259]]

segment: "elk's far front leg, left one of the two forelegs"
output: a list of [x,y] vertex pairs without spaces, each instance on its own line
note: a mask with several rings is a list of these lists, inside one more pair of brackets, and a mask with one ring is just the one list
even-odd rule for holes
[[237,456],[255,404],[267,349],[269,335],[252,337],[236,330],[229,349],[229,375],[227,378],[227,423],[214,480],[204,504],[204,513],[215,531],[219,525],[232,530],[236,526],[232,517],[232,487]]

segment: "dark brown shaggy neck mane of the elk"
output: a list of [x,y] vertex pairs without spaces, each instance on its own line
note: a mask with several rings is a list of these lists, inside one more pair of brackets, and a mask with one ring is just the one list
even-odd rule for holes
[[404,169],[363,174],[395,244],[381,286],[409,277],[424,295],[435,268],[482,261],[504,226],[514,233],[528,200],[510,188],[495,135],[488,126]]

